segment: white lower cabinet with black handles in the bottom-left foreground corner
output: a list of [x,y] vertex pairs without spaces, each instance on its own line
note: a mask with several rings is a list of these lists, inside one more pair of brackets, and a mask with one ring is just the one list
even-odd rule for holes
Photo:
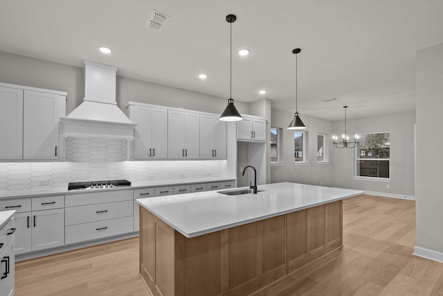
[[0,295],[12,296],[15,292],[15,220],[0,229]]

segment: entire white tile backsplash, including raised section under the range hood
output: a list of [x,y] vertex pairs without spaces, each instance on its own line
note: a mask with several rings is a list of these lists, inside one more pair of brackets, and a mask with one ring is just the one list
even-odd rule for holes
[[220,177],[224,160],[126,161],[127,141],[66,139],[66,162],[0,162],[0,191],[67,188],[69,182]]

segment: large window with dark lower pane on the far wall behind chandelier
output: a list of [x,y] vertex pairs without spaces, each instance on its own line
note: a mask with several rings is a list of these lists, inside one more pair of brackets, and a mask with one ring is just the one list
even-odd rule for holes
[[389,132],[359,134],[356,177],[389,179]]

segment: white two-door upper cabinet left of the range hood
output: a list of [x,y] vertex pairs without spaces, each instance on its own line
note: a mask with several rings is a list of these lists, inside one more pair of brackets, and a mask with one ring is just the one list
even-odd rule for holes
[[0,159],[56,160],[66,93],[0,85]]

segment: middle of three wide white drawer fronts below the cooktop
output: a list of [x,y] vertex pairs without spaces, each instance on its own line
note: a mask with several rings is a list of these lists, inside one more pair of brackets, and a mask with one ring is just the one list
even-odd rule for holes
[[133,215],[133,203],[132,200],[127,200],[125,202],[109,202],[105,204],[69,207],[64,210],[64,222],[65,225],[75,225],[129,217]]

